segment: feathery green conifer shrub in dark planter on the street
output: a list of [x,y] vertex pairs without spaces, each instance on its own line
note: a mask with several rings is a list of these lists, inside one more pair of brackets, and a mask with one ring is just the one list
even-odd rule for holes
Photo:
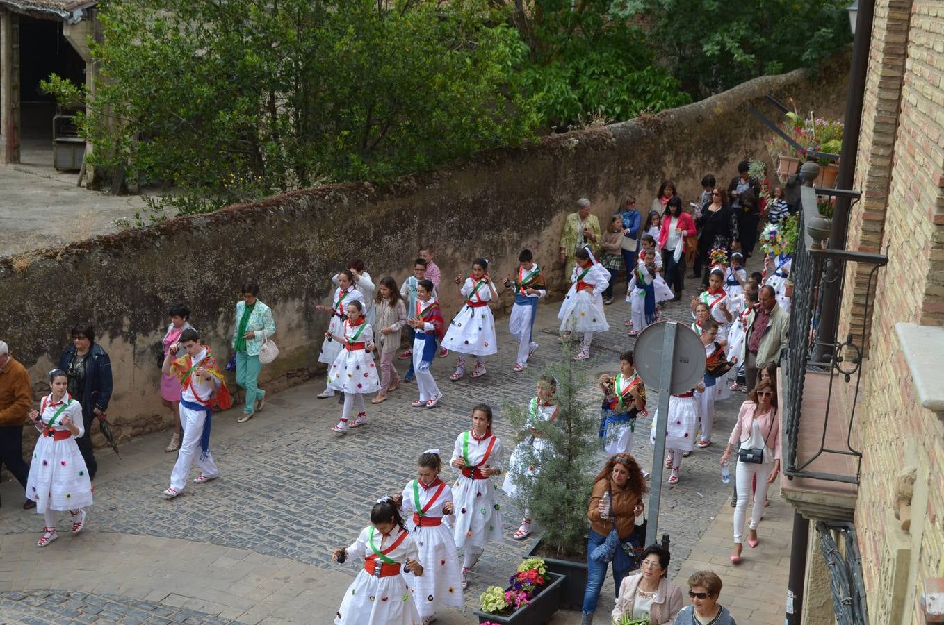
[[[529,446],[522,467],[510,467],[509,478],[518,486],[519,507],[527,508],[542,535],[529,556],[544,558],[548,570],[566,576],[562,606],[581,606],[586,586],[586,518],[590,491],[598,467],[598,413],[579,394],[586,389],[586,376],[574,366],[569,354],[548,366],[543,375],[557,380],[554,394],[558,406],[553,421],[534,422],[526,410],[511,406],[508,418],[520,431],[534,428],[546,444],[535,452]],[[527,467],[540,467],[536,473]]]

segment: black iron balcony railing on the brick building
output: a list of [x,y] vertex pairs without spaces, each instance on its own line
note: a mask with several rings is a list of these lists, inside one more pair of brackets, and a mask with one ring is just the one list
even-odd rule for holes
[[[789,335],[785,363],[784,389],[784,445],[786,447],[786,466],[784,475],[789,479],[794,477],[813,478],[832,482],[846,482],[858,484],[859,472],[862,468],[862,452],[852,446],[852,427],[855,422],[855,400],[859,394],[859,383],[862,378],[863,352],[867,347],[868,326],[870,325],[870,307],[874,298],[875,284],[878,269],[885,266],[888,258],[880,254],[863,252],[848,252],[845,250],[830,250],[820,248],[808,232],[807,226],[818,227],[820,224],[829,227],[819,216],[819,201],[824,198],[834,198],[840,195],[858,199],[859,193],[843,189],[814,189],[804,186],[801,188],[801,211],[797,249],[791,262],[790,279],[793,282],[793,300],[790,305]],[[828,230],[818,238],[827,238]],[[864,302],[863,321],[858,328],[852,328],[845,341],[820,337],[818,321],[822,315],[823,294],[827,289],[838,289],[838,297],[834,300],[842,303],[846,282],[850,281],[851,273],[847,271],[851,265],[858,264],[858,270],[868,271],[866,296]],[[841,310],[841,306],[838,306]],[[835,311],[838,314],[839,310]],[[828,396],[825,402],[825,413],[819,417],[814,414],[801,415],[803,403],[803,386],[807,371],[829,372]],[[838,391],[840,379],[844,384],[851,384],[854,378],[854,388],[851,395],[848,415],[831,414],[833,394]],[[797,443],[800,433],[801,419],[803,419],[804,433],[809,436],[816,428],[819,436],[818,450],[806,453],[798,462]],[[827,431],[830,419],[848,419],[845,445],[836,449],[827,442]],[[855,458],[855,475],[828,473],[810,469],[810,465],[823,454],[840,454]]]

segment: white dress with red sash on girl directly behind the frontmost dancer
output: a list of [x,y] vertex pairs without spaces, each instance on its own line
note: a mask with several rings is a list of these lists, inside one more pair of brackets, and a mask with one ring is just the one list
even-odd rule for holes
[[[442,486],[442,490],[439,488]],[[438,495],[437,495],[438,491]],[[419,508],[424,510],[423,518],[441,518],[439,525],[417,525],[415,496],[419,495]],[[432,502],[430,504],[430,501]],[[437,479],[432,485],[424,487],[413,480],[403,489],[403,502],[400,511],[407,521],[407,529],[419,548],[419,563],[423,565],[423,574],[416,577],[405,571],[413,600],[420,617],[432,616],[440,607],[463,607],[463,578],[459,566],[459,554],[455,539],[447,520],[443,506],[452,501],[452,489],[445,482]],[[420,521],[422,523],[422,521]]]

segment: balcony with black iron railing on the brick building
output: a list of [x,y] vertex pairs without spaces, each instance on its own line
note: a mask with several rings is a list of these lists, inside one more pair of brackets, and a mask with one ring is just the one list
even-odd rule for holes
[[[781,488],[784,499],[804,518],[841,523],[851,522],[855,510],[862,466],[862,453],[854,446],[855,412],[866,365],[869,308],[878,270],[888,259],[820,247],[807,232],[807,225],[822,224],[818,195],[859,196],[841,189],[801,188],[800,234],[790,273],[789,338],[779,371],[784,445]],[[825,238],[828,232],[819,236]],[[857,277],[866,283],[866,295],[857,303],[861,309],[846,320],[851,331],[842,342],[821,336],[819,322],[824,313],[840,315],[844,288]],[[832,310],[825,309],[824,302]]]

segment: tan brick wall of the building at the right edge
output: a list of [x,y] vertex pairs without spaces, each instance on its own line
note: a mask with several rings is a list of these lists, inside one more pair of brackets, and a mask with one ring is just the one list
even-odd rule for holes
[[[873,251],[881,241],[889,262],[880,271],[863,376],[857,438],[865,455],[856,526],[871,622],[917,624],[919,582],[937,576],[944,557],[944,427],[917,403],[893,328],[899,321],[944,324],[944,7],[877,4],[856,176],[865,197],[853,215],[851,244]],[[849,322],[857,303],[844,304]],[[926,491],[914,510],[920,522],[904,535],[904,544],[911,543],[908,571],[887,564],[895,549],[887,511],[905,465],[918,467],[919,488]],[[903,612],[893,613],[888,590],[901,575],[908,575]]]

